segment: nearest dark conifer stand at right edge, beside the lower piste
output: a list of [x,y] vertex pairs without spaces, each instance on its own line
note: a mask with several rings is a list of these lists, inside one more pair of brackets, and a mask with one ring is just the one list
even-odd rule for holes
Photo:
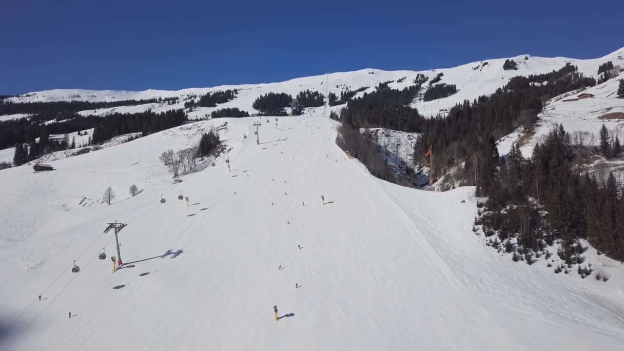
[[[608,144],[606,134],[601,139]],[[488,196],[477,220],[485,235],[515,237],[517,248],[512,250],[530,255],[560,240],[557,254],[567,265],[581,263],[578,239],[624,260],[624,189],[612,172],[575,167],[582,152],[572,146],[563,126],[553,129],[526,159],[515,144],[507,157],[499,157],[490,142],[482,154],[484,169],[475,172],[477,194]]]

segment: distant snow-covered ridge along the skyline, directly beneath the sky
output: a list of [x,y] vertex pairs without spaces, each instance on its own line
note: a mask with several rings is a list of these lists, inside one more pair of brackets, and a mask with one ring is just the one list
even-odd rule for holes
[[[624,47],[618,51],[612,52],[597,59],[570,59],[566,57],[535,57],[530,55],[520,55],[509,57],[518,63],[517,70],[505,71],[503,64],[505,59],[487,59],[479,62],[471,62],[462,66],[432,69],[429,71],[382,71],[379,69],[362,69],[353,72],[336,72],[324,74],[320,76],[302,77],[291,79],[285,82],[275,82],[268,84],[242,84],[238,86],[227,85],[205,88],[188,88],[179,91],[163,91],[149,89],[146,91],[97,91],[87,89],[53,89],[39,92],[29,92],[22,96],[12,97],[12,101],[59,101],[59,100],[78,100],[78,101],[120,101],[127,99],[153,99],[158,97],[180,97],[180,102],[175,105],[167,104],[144,104],[141,106],[129,107],[127,111],[124,108],[115,108],[118,112],[137,112],[147,109],[153,111],[165,111],[167,109],[182,108],[183,100],[190,99],[190,96],[206,94],[207,92],[219,91],[225,89],[239,89],[238,97],[233,101],[221,104],[217,107],[203,107],[191,112],[191,117],[203,117],[205,114],[210,115],[215,109],[223,107],[238,107],[250,114],[256,113],[251,104],[256,97],[266,92],[286,92],[291,96],[296,96],[300,91],[311,89],[324,94],[334,92],[338,96],[344,89],[354,91],[359,87],[368,86],[368,91],[373,91],[380,82],[394,81],[389,84],[390,87],[402,89],[413,85],[414,78],[417,74],[424,74],[429,80],[442,73],[442,80],[437,83],[456,84],[459,90],[456,94],[444,99],[424,102],[418,97],[412,106],[416,107],[425,116],[435,116],[441,113],[441,109],[449,109],[457,103],[461,103],[465,99],[472,101],[476,97],[484,94],[491,94],[497,88],[507,84],[507,81],[514,76],[539,74],[560,69],[570,62],[576,66],[585,76],[596,76],[598,66],[606,61],[613,61],[614,64],[620,64],[624,55]],[[487,62],[487,64],[486,64]],[[402,82],[397,82],[402,79]],[[424,89],[429,86],[429,81],[424,84]],[[363,92],[360,92],[361,96]],[[105,114],[110,109],[102,109],[97,114]],[[84,111],[83,114],[89,114],[92,111]]]

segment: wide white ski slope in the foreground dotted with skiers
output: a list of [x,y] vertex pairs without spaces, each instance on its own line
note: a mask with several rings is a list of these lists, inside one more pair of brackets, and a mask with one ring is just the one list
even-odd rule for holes
[[[322,111],[195,122],[55,171],[2,171],[0,350],[622,348],[619,263],[602,259],[602,282],[512,262],[470,230],[474,188],[374,178]],[[173,184],[161,152],[225,122],[229,151]],[[98,202],[109,186],[117,198]]]

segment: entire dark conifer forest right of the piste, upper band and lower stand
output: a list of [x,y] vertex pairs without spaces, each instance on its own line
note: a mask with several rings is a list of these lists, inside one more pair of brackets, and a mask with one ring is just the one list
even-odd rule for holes
[[[425,164],[424,154],[431,145],[434,174],[445,174],[462,165],[462,184],[477,185],[477,195],[489,199],[480,205],[477,223],[483,225],[485,235],[497,234],[489,244],[515,252],[514,260],[528,259],[526,262],[531,263],[533,257],[546,254],[558,241],[561,249],[557,254],[566,264],[580,263],[578,254],[583,248],[577,239],[587,239],[601,252],[622,260],[624,219],[620,217],[624,217],[617,214],[624,211],[624,199],[619,195],[624,189],[619,189],[612,174],[597,178],[573,167],[583,152],[619,155],[619,140],[606,141],[608,133],[603,131],[602,147],[579,149],[561,127],[535,147],[532,155],[522,156],[514,146],[502,158],[495,144],[517,127],[529,132],[548,99],[595,84],[595,79],[583,77],[577,67],[567,64],[547,74],[514,77],[494,94],[464,101],[452,107],[447,117],[433,118],[407,106],[420,85],[402,91],[378,89],[349,101],[342,109],[338,142],[353,156],[361,157],[377,177],[401,182],[392,177],[381,154],[374,155],[376,145],[365,141],[358,129],[386,127],[421,133],[414,150],[415,162]],[[508,240],[511,237],[517,237],[513,245]]]

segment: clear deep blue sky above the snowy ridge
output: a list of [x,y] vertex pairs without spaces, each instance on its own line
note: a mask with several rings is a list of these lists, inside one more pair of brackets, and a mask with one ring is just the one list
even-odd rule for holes
[[181,89],[624,46],[624,1],[0,1],[0,94]]

